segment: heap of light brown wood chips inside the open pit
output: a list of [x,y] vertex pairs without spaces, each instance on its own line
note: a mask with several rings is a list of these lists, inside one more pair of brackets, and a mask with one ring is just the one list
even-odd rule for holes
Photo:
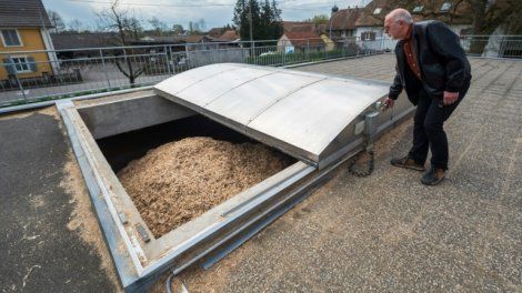
[[188,138],[149,151],[118,176],[159,238],[291,163],[259,143]]

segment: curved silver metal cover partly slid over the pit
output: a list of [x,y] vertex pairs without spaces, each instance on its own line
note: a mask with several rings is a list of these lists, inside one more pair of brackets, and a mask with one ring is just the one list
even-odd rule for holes
[[318,163],[353,140],[349,125],[388,93],[379,81],[249,64],[197,68],[155,92],[291,155]]

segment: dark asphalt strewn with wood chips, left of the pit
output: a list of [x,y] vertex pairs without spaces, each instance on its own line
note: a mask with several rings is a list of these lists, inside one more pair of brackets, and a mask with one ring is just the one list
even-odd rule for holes
[[0,117],[0,292],[116,291],[56,110]]

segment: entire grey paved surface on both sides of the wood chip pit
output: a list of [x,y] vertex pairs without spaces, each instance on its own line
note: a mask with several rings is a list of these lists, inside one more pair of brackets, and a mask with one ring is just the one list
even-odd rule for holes
[[[451,171],[440,186],[389,165],[409,149],[406,121],[378,142],[371,176],[339,170],[215,266],[177,282],[191,292],[521,292],[522,62],[472,67],[470,92],[446,125]],[[302,70],[390,81],[393,57]],[[0,117],[0,290],[113,291],[56,112]]]

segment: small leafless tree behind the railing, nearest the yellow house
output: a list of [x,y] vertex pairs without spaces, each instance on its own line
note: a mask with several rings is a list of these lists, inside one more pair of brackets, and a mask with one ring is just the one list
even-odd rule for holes
[[[132,34],[135,34],[137,28],[141,28],[139,20],[131,17],[129,10],[119,7],[119,0],[116,0],[109,10],[97,12],[97,16],[104,30],[117,32],[119,46],[129,46],[129,40]],[[123,61],[121,58],[117,58],[114,63],[118,70],[129,79],[131,87],[133,87],[135,79],[143,73],[147,64],[134,64],[132,62],[131,57],[127,55],[128,52],[130,54],[134,53],[132,49],[123,48],[122,51],[124,54]]]

